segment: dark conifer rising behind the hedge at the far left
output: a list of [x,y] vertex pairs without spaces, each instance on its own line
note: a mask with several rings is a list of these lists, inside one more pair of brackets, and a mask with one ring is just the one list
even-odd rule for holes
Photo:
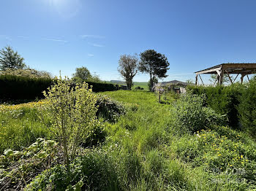
[[12,50],[12,47],[7,46],[0,50],[0,69],[5,71],[7,69],[23,69],[26,64],[18,52]]

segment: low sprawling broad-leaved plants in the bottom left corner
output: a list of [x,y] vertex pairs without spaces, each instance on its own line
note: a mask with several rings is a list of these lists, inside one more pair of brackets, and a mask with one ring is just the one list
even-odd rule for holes
[[1,190],[23,190],[45,168],[61,163],[59,145],[55,141],[38,138],[22,151],[6,149],[0,156]]

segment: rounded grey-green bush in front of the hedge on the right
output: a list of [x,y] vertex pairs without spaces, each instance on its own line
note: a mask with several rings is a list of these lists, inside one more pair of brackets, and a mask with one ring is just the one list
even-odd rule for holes
[[211,125],[223,124],[224,117],[204,106],[205,99],[205,95],[187,94],[173,104],[178,127],[194,133]]

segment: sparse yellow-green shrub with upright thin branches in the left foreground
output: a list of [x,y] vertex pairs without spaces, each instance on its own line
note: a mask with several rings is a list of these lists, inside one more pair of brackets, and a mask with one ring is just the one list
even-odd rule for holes
[[46,101],[43,106],[53,128],[49,130],[64,147],[64,162],[69,170],[69,162],[74,160],[78,145],[98,124],[97,96],[86,82],[73,88],[67,79],[62,80],[61,77],[44,95]]

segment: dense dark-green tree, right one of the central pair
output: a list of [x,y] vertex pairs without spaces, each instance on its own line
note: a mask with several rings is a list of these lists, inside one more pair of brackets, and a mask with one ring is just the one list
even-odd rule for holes
[[154,78],[167,77],[166,73],[169,65],[170,63],[165,55],[155,50],[146,50],[140,53],[139,70],[150,75],[150,90],[152,90]]

